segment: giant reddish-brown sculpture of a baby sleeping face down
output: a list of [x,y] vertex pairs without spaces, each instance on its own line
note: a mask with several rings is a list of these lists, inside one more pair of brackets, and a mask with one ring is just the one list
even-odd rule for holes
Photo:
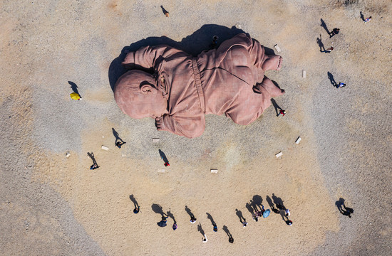
[[[118,107],[130,117],[153,117],[160,131],[194,138],[205,130],[205,114],[225,114],[250,124],[284,94],[267,70],[279,70],[282,57],[266,55],[245,33],[196,58],[170,46],[147,46],[123,61],[130,69],[115,84]],[[138,69],[152,68],[154,74]]]

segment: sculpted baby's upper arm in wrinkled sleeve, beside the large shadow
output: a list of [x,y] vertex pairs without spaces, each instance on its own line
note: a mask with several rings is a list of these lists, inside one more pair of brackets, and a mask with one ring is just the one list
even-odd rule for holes
[[130,52],[125,56],[123,65],[125,68],[155,68],[155,66],[163,59],[170,55],[180,52],[176,48],[170,46],[145,46]]

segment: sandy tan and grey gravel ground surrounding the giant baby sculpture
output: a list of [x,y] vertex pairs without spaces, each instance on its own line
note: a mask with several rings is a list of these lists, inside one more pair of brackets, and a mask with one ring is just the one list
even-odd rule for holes
[[[391,1],[31,0],[0,1],[0,11],[1,255],[391,255]],[[329,38],[321,18],[340,33]],[[110,85],[124,49],[170,43],[197,54],[236,25],[282,49],[282,70],[267,76],[287,92],[275,99],[284,117],[269,107],[242,127],[208,115],[202,137],[186,139],[117,107]],[[320,52],[320,35],[332,53]],[[328,72],[347,86],[333,87]],[[70,99],[68,81],[83,100]],[[292,226],[274,213],[252,220],[246,204],[268,207],[273,194]],[[172,218],[158,227],[155,205],[177,230]]]

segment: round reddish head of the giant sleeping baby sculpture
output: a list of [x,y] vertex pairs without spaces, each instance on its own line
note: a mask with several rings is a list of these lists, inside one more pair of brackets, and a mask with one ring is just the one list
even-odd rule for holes
[[114,98],[118,107],[132,118],[155,118],[167,113],[167,100],[157,89],[154,76],[141,70],[130,70],[118,78]]

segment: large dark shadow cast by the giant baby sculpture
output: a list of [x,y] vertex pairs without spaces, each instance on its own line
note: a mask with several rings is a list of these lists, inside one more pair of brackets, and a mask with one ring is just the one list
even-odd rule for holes
[[[192,33],[192,35],[182,38],[180,42],[174,41],[166,36],[161,37],[149,37],[137,41],[135,43],[130,44],[130,46],[125,46],[123,50],[121,50],[120,55],[115,58],[111,63],[108,70],[109,84],[112,90],[114,91],[115,83],[118,78],[127,72],[127,69],[121,65],[123,60],[125,59],[126,53],[130,51],[138,50],[143,46],[158,46],[160,44],[164,44],[167,46],[172,46],[179,50],[183,50],[186,53],[196,57],[203,50],[209,50],[210,44],[213,36],[218,36],[217,47],[220,44],[238,33],[243,33],[241,29],[232,26],[232,28],[227,28],[225,26],[215,25],[215,24],[206,24],[199,28],[197,31]],[[265,54],[274,55],[274,50],[272,48],[267,48],[264,46]],[[138,67],[138,69],[142,69]],[[145,70],[152,72],[153,70]]]

